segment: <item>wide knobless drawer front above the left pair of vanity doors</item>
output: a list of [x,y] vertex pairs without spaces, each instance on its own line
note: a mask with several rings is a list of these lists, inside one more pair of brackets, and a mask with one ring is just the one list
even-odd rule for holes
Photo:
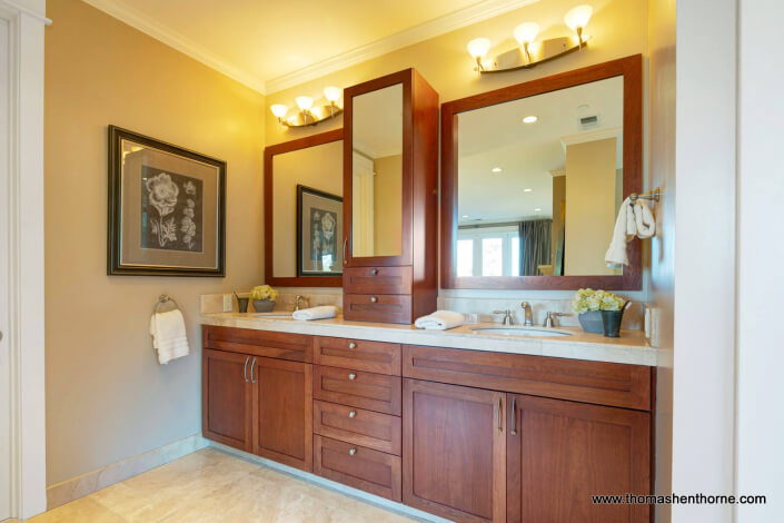
[[205,348],[216,351],[292,362],[312,362],[312,336],[304,334],[202,325],[201,343]]

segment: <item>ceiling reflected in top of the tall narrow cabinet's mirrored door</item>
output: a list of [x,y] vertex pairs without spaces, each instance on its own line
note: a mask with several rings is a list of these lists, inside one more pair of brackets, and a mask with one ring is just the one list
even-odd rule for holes
[[403,154],[403,83],[353,99],[354,148],[370,158]]

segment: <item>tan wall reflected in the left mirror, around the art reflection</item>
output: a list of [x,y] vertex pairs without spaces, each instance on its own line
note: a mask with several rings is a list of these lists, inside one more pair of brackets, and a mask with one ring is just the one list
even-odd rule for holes
[[272,274],[297,276],[297,185],[343,196],[343,140],[275,156]]

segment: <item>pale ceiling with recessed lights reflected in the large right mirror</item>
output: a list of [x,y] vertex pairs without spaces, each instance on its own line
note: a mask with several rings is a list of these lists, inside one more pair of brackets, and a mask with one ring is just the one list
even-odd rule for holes
[[[538,120],[524,124],[526,116]],[[598,116],[598,126],[580,129],[589,116]],[[623,77],[459,114],[459,223],[552,218],[550,171],[564,168],[564,142],[617,135],[622,168],[622,126]]]

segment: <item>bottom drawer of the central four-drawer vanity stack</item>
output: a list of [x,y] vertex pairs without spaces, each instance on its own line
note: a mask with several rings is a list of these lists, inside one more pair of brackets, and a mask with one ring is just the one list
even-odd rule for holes
[[314,436],[314,472],[388,500],[401,501],[400,457]]

